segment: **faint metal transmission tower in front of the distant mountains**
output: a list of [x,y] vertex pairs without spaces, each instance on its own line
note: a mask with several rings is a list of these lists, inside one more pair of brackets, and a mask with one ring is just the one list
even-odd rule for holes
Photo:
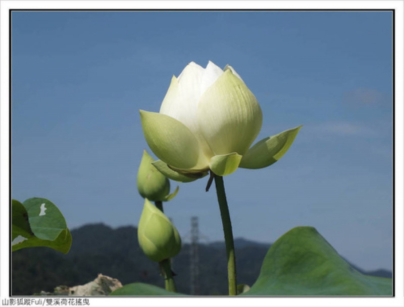
[[189,249],[190,255],[190,287],[191,295],[197,295],[199,292],[198,280],[199,280],[199,254],[198,254],[198,244],[199,244],[199,226],[198,217],[191,217],[191,245]]

